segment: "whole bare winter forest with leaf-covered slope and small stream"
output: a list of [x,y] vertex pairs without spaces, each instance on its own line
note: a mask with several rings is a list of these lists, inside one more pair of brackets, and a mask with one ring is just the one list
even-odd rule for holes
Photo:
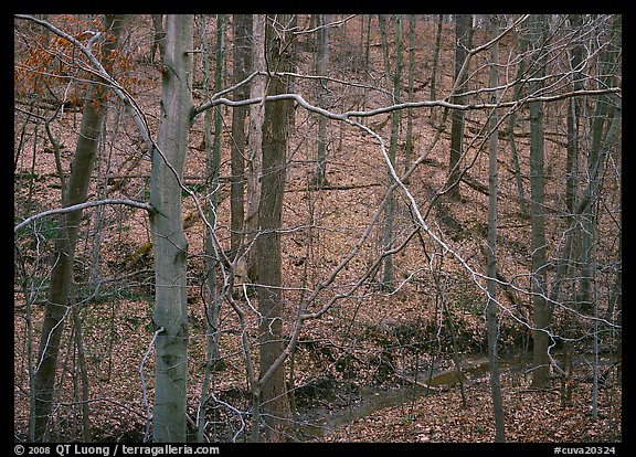
[[15,442],[622,442],[622,15],[13,40]]

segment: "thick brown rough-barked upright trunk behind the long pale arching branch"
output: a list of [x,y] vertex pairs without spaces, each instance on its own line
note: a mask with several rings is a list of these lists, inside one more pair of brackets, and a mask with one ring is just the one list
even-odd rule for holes
[[[290,70],[292,32],[285,26],[290,21],[288,14],[267,18],[266,43],[269,65],[280,72]],[[272,75],[267,95],[287,92],[285,76]],[[284,364],[264,379],[269,368],[283,353],[283,277],[280,233],[283,196],[285,191],[287,131],[293,105],[288,100],[271,102],[265,105],[263,123],[263,178],[258,204],[258,227],[256,240],[258,274],[259,354],[262,398],[261,411],[266,425],[268,442],[280,442],[285,437],[289,419],[289,403],[285,386]],[[258,424],[253,424],[254,427]]]

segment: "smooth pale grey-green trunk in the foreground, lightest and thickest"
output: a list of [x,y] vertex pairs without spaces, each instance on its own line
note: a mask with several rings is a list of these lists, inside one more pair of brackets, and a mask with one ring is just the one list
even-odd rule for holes
[[192,97],[192,14],[166,18],[158,149],[152,151],[150,216],[157,329],[153,442],[186,442],[188,378],[188,246],[181,219],[181,180]]

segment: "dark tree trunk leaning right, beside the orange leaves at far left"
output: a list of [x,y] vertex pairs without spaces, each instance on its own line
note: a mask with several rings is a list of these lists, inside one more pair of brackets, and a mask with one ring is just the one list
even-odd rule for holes
[[[105,17],[105,28],[110,32],[108,34],[109,40],[104,43],[105,54],[103,62],[106,64],[105,66],[108,65],[110,54],[117,46],[123,20],[124,15],[107,14]],[[105,116],[106,92],[102,85],[93,83],[89,85],[84,100],[82,125],[75,146],[71,177],[67,181],[67,188],[63,189],[62,201],[64,206],[86,201]],[[42,325],[34,371],[33,395],[35,398],[33,403],[34,411],[31,412],[31,421],[33,421],[31,429],[34,432],[32,438],[36,442],[49,438],[47,429],[57,370],[57,355],[64,329],[64,319],[68,316],[71,309],[70,294],[73,287],[73,263],[81,220],[82,211],[73,211],[60,216],[60,232],[55,241],[55,262],[51,273],[49,299],[44,308],[44,322]]]

